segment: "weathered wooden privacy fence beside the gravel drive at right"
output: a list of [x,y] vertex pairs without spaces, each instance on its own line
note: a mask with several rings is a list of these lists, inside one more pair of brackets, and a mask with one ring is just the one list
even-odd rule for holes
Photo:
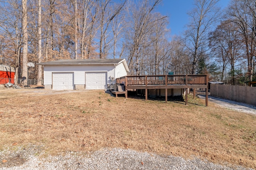
[[211,84],[211,96],[256,106],[256,87]]

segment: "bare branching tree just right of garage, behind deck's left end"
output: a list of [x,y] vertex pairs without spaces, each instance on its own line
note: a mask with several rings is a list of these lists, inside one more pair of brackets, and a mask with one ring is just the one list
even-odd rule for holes
[[[152,4],[148,0],[142,2],[142,4],[130,4],[128,11],[130,16],[128,16],[127,30],[127,48],[129,51],[128,65],[136,75],[142,73],[143,57],[145,57],[145,49],[150,42],[150,35],[153,33],[153,25],[156,24],[158,20],[162,20],[165,16],[160,16],[160,18],[155,18],[153,14],[154,8],[161,2],[161,0],[154,0]],[[134,68],[134,69],[132,69]]]

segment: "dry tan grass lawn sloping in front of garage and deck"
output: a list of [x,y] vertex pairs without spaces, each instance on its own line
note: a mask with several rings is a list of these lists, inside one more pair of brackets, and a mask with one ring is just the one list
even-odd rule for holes
[[44,144],[49,154],[120,147],[256,168],[256,116],[204,102],[1,90],[0,146]]

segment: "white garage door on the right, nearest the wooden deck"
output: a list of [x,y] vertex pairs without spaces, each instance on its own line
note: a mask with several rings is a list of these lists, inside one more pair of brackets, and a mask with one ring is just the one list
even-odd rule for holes
[[106,72],[86,72],[85,87],[87,90],[106,89]]

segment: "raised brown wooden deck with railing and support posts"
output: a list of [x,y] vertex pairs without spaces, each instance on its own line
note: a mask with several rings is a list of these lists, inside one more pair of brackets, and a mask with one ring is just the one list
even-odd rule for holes
[[[165,89],[165,101],[167,103],[167,89],[186,89],[186,105],[188,104],[189,88],[204,88],[206,90],[206,106],[208,106],[208,75],[153,75],[153,76],[124,76],[116,78],[116,83],[125,85],[127,90],[145,89],[145,97],[148,100],[148,89]],[[194,90],[194,98],[196,96]]]

